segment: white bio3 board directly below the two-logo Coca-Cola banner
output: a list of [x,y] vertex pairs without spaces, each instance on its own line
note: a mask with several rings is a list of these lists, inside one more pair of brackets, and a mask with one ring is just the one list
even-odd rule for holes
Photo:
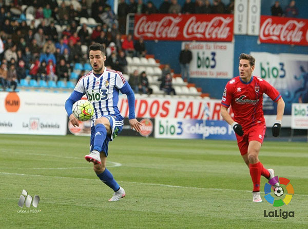
[[[184,49],[186,42],[182,43]],[[233,77],[234,43],[194,42],[188,43],[192,52],[189,65],[190,77],[225,79]]]

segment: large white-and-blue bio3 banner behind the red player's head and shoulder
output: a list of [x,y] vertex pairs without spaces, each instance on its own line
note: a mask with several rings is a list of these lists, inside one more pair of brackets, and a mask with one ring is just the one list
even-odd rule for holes
[[[254,75],[271,83],[282,95],[285,115],[291,115],[292,103],[308,102],[308,55],[251,52],[256,58]],[[276,115],[276,105],[267,96],[265,115]]]

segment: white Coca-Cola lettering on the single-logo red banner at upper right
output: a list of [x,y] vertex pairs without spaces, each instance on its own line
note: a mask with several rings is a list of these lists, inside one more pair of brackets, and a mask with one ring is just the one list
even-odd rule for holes
[[[260,28],[261,40],[299,43],[303,39],[303,21],[289,20],[285,24],[273,23],[272,18],[266,19]],[[307,40],[306,34],[306,40]]]

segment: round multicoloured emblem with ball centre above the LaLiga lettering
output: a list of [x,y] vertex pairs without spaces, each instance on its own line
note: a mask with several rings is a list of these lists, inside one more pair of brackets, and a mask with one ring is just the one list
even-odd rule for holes
[[[290,180],[286,179],[286,178],[279,178],[279,184],[280,185],[284,185],[285,189],[286,189],[286,193],[285,190],[283,189],[283,187],[275,187],[274,189],[274,195],[276,197],[279,197],[279,199],[276,199],[271,195],[272,192],[272,186],[275,185],[278,182],[278,177],[274,177],[271,180],[268,181],[268,183],[265,183],[264,186],[264,198],[268,203],[273,204],[274,207],[280,207],[285,205],[288,205],[288,203],[290,203],[292,196],[294,195],[294,188],[292,186],[292,184],[290,184]],[[285,194],[284,199],[282,199],[283,195]]]

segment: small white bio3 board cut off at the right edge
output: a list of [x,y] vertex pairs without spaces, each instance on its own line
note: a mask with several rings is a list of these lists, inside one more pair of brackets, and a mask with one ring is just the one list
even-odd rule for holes
[[308,129],[308,103],[292,104],[292,129]]

